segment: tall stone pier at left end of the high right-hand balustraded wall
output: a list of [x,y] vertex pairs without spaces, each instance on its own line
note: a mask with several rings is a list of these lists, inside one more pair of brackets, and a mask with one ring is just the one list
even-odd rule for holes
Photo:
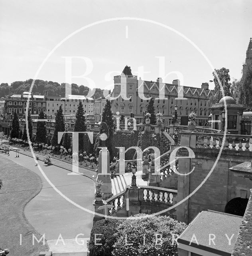
[[[184,131],[181,134],[181,147],[188,147],[188,148],[195,148],[196,147],[196,136],[191,131]],[[183,151],[188,150],[186,148],[181,149]],[[189,173],[191,166],[191,159],[190,158],[179,158],[179,173],[187,174]],[[184,198],[189,195],[189,182],[190,182],[190,175],[178,175],[178,183],[177,183],[177,202],[180,202]],[[177,220],[183,221],[188,223],[188,204],[189,200],[179,204],[176,207],[177,210]]]

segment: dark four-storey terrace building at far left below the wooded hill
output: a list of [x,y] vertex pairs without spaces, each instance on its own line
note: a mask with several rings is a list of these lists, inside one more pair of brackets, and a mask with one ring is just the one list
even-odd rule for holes
[[33,95],[30,92],[23,92],[22,94],[13,94],[5,100],[4,113],[7,118],[16,113],[20,118],[25,118],[27,101],[29,100],[29,110],[31,114],[39,114],[41,109],[46,111],[46,101],[43,95]]

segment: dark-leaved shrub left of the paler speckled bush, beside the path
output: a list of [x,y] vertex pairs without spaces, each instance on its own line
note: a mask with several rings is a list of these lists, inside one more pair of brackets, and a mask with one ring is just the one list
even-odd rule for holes
[[[87,242],[87,248],[89,249],[88,256],[110,256],[114,243],[116,242],[116,227],[118,226],[118,220],[99,220],[97,221],[90,235],[90,240]],[[102,245],[95,245],[95,234],[96,243]],[[98,240],[101,239],[101,240]]]

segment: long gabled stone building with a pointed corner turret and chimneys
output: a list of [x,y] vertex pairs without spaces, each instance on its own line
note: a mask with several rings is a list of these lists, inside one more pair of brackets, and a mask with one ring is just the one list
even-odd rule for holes
[[[163,97],[160,97],[162,93]],[[114,117],[124,115],[130,118],[133,113],[137,123],[141,123],[149,98],[153,97],[155,111],[163,114],[164,125],[171,123],[171,114],[176,104],[179,122],[181,117],[188,116],[193,111],[197,114],[197,125],[204,125],[211,114],[208,100],[214,92],[209,90],[208,83],[202,83],[201,88],[195,88],[181,86],[179,80],[173,80],[172,84],[163,83],[162,78],[158,78],[156,82],[144,81],[141,78],[138,80],[137,76],[132,75],[130,67],[126,66],[120,76],[114,76],[111,95],[115,98],[112,100]]]

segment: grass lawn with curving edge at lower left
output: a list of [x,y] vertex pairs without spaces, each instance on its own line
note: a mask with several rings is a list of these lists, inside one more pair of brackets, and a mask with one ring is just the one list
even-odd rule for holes
[[[41,188],[40,177],[32,171],[1,157],[0,179],[0,248],[9,248],[10,256],[37,256],[41,251],[48,251],[45,242],[32,244],[32,234],[41,238],[24,216],[24,207],[36,196]],[[20,245],[22,234],[22,245]]]

